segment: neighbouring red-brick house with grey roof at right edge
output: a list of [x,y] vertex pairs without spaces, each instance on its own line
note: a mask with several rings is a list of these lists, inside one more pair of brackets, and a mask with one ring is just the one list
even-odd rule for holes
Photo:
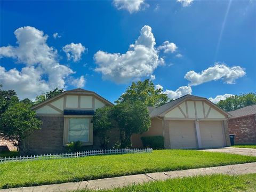
[[235,134],[235,143],[256,143],[256,105],[230,111],[229,133]]

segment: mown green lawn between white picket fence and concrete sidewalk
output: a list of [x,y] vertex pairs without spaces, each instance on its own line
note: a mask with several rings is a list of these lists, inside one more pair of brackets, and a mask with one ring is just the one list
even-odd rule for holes
[[103,155],[0,164],[0,188],[256,162],[256,157],[197,150]]

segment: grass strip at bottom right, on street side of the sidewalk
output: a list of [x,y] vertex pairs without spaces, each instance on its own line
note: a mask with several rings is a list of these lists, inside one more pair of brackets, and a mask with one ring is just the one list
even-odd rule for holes
[[[239,176],[230,175],[206,175],[197,177],[169,179],[165,181],[155,181],[143,183],[140,185],[132,185],[124,188],[115,188],[112,190],[99,190],[100,192],[107,191],[175,191],[175,192],[190,192],[190,191],[255,191],[256,189],[256,174],[246,174]],[[76,192],[89,192],[92,190],[76,190]]]

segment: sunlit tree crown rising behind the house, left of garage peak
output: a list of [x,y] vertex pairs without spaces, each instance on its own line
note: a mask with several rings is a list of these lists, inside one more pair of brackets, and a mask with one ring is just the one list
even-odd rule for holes
[[123,102],[141,101],[146,106],[161,106],[168,101],[167,94],[162,89],[155,89],[154,83],[149,79],[132,83],[124,94],[115,102],[117,104]]

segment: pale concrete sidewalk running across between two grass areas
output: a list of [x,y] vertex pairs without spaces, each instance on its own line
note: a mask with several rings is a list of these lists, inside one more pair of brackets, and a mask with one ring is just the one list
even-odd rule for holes
[[256,163],[245,163],[237,165],[227,165],[218,167],[207,167],[200,169],[190,169],[181,171],[167,171],[161,173],[147,173],[147,174],[137,174],[137,175],[127,175],[116,178],[106,178],[97,179],[82,182],[70,182],[61,183],[55,185],[44,185],[35,187],[22,187],[22,188],[12,188],[12,189],[2,189],[4,191],[18,191],[18,192],[50,192],[50,191],[67,191],[67,190],[78,190],[78,189],[111,189],[115,187],[124,187],[131,185],[133,183],[143,183],[157,180],[165,180],[178,177],[191,177],[195,175],[209,175],[209,174],[249,174],[256,173]]

